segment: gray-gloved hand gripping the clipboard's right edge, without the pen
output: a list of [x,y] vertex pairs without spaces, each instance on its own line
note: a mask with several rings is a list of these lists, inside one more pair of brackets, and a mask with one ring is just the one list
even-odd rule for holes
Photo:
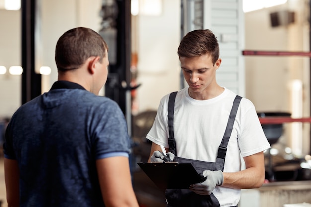
[[189,190],[200,195],[210,195],[216,186],[220,186],[224,182],[224,176],[221,170],[204,170],[203,176],[206,177],[206,180],[202,183],[190,185]]

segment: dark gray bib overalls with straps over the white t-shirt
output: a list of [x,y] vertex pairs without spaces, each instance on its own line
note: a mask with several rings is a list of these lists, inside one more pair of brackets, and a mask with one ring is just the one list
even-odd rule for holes
[[[175,162],[179,163],[192,163],[198,173],[202,173],[204,170],[224,170],[225,157],[227,151],[228,141],[233,129],[238,106],[242,97],[236,96],[233,102],[233,106],[229,115],[227,127],[222,139],[222,142],[218,148],[218,154],[216,162],[204,162],[199,160],[185,159],[177,156],[176,143],[174,139],[174,106],[177,92],[172,92],[168,101],[168,130],[169,130],[169,152],[175,155]],[[209,196],[202,196],[194,193],[188,189],[166,189],[165,197],[167,200],[167,207],[220,207],[217,198],[213,193]]]

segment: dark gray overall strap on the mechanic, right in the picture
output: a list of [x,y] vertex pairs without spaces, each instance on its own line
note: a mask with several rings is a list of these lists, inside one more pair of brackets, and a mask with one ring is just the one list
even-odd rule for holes
[[230,111],[230,115],[228,118],[228,122],[227,122],[227,127],[222,139],[222,142],[218,148],[218,153],[217,153],[217,158],[216,158],[216,163],[220,164],[223,166],[222,171],[224,170],[224,165],[225,165],[225,157],[226,157],[226,152],[227,152],[227,145],[229,142],[229,138],[233,129],[233,124],[235,121],[235,117],[236,117],[236,113],[237,113],[237,109],[238,106],[241,102],[242,97],[236,95],[234,101],[233,101],[233,105]]

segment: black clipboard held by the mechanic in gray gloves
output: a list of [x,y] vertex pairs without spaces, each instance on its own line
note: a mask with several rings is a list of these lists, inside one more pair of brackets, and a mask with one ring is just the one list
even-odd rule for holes
[[159,162],[137,163],[146,175],[162,190],[189,189],[205,180],[191,163]]

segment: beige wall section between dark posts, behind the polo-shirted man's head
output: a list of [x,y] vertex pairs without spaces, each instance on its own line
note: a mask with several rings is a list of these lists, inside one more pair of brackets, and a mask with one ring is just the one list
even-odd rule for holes
[[42,0],[42,65],[50,66],[50,76],[44,78],[43,92],[48,91],[57,80],[54,61],[55,45],[58,38],[74,27],[89,27],[99,31],[101,0]]

